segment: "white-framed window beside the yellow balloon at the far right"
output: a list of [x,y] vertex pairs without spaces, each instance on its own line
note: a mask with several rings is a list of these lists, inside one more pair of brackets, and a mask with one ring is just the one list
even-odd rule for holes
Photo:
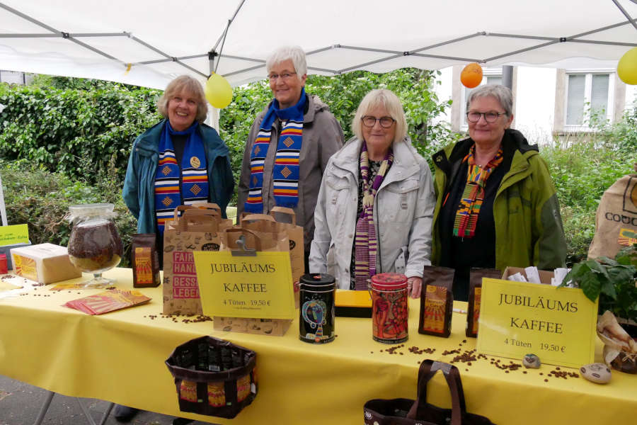
[[595,117],[612,120],[613,77],[613,72],[566,72],[566,130],[590,130]]

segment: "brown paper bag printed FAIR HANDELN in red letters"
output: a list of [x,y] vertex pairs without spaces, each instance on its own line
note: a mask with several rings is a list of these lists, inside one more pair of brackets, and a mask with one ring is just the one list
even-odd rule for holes
[[163,233],[163,314],[202,314],[193,251],[219,251],[218,220],[185,210]]

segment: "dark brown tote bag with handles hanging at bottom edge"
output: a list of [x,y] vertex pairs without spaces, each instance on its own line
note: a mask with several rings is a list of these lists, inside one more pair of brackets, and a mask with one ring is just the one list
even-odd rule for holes
[[[427,382],[442,370],[452,396],[452,408],[427,403]],[[418,397],[411,399],[372,399],[365,403],[366,425],[493,425],[488,418],[466,412],[460,372],[454,365],[425,360],[418,370]]]

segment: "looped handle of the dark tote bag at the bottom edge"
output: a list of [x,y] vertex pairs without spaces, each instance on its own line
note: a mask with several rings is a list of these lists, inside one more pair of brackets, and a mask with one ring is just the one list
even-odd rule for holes
[[406,418],[416,419],[418,407],[423,406],[427,402],[427,382],[433,378],[438,370],[442,370],[444,379],[447,380],[449,392],[451,392],[451,425],[461,425],[462,418],[466,414],[466,404],[464,402],[460,371],[454,365],[432,360],[425,360],[423,363],[420,363],[420,369],[418,370],[418,396],[413,402],[411,409],[409,409]]

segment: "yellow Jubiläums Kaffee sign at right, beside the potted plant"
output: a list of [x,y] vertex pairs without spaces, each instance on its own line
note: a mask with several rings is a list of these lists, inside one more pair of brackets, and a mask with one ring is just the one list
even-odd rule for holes
[[478,353],[579,368],[595,356],[597,302],[577,288],[483,279]]

